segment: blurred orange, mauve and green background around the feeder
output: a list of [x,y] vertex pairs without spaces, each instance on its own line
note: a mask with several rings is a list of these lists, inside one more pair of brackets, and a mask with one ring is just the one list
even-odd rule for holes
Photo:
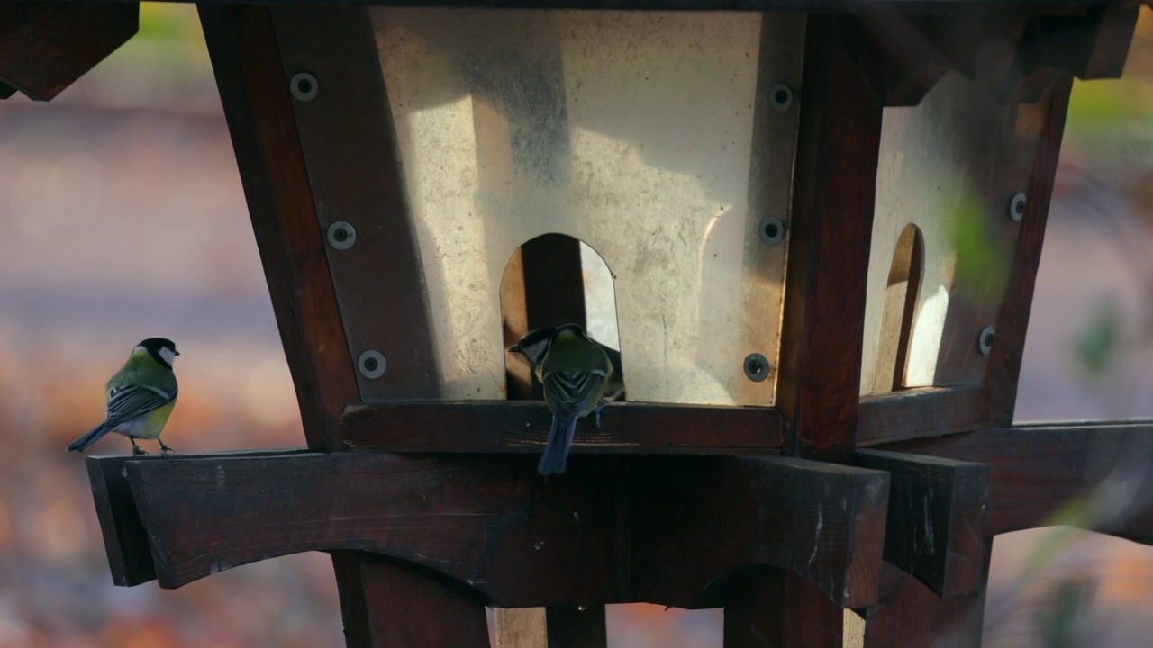
[[[1018,421],[1153,415],[1151,83],[1143,9],[1125,77],[1075,85]],[[140,35],[60,97],[0,101],[0,648],[342,646],[325,555],[178,590],[112,585],[84,462],[63,447],[152,336],[182,352],[169,445],[303,445],[195,7],[145,2]],[[1061,527],[1000,536],[985,645],[1148,645],[1151,605],[1150,548]],[[721,623],[615,605],[609,645],[718,648]]]

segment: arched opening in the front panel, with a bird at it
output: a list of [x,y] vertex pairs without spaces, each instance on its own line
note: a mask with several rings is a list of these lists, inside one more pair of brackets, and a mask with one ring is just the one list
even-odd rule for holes
[[[542,234],[513,251],[500,280],[505,347],[537,329],[575,323],[601,342],[612,360],[610,391],[624,399],[612,272],[590,246],[566,234]],[[505,354],[510,400],[538,400],[541,385],[529,361]]]

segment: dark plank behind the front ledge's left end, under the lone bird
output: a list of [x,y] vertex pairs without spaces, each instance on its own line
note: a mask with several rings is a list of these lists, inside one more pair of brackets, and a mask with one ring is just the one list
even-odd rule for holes
[[[242,453],[180,454],[180,457],[277,457],[296,454],[302,450],[246,451]],[[108,556],[108,567],[112,570],[112,582],[121,587],[131,587],[156,578],[156,567],[149,552],[148,534],[141,523],[140,513],[128,484],[129,461],[156,461],[160,457],[150,454],[134,457],[131,454],[91,454],[84,458],[88,467],[88,479],[92,485],[92,499],[96,503],[96,517],[100,522],[100,534],[104,536],[104,550]]]

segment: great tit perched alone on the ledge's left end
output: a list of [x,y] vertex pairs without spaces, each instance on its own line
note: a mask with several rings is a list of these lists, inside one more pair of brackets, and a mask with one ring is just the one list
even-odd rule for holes
[[108,432],[119,432],[133,442],[133,454],[148,454],[136,439],[160,442],[160,455],[172,449],[160,440],[160,431],[176,404],[176,375],[172,360],[180,355],[176,345],[164,338],[149,338],[133,347],[128,362],[108,379],[108,401],[104,422],[92,428],[68,450],[88,450]]

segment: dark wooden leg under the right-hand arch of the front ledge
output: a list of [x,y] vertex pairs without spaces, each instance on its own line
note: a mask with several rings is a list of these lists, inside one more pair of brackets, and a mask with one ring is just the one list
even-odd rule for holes
[[724,606],[724,648],[842,648],[844,612],[783,570],[746,574]]

